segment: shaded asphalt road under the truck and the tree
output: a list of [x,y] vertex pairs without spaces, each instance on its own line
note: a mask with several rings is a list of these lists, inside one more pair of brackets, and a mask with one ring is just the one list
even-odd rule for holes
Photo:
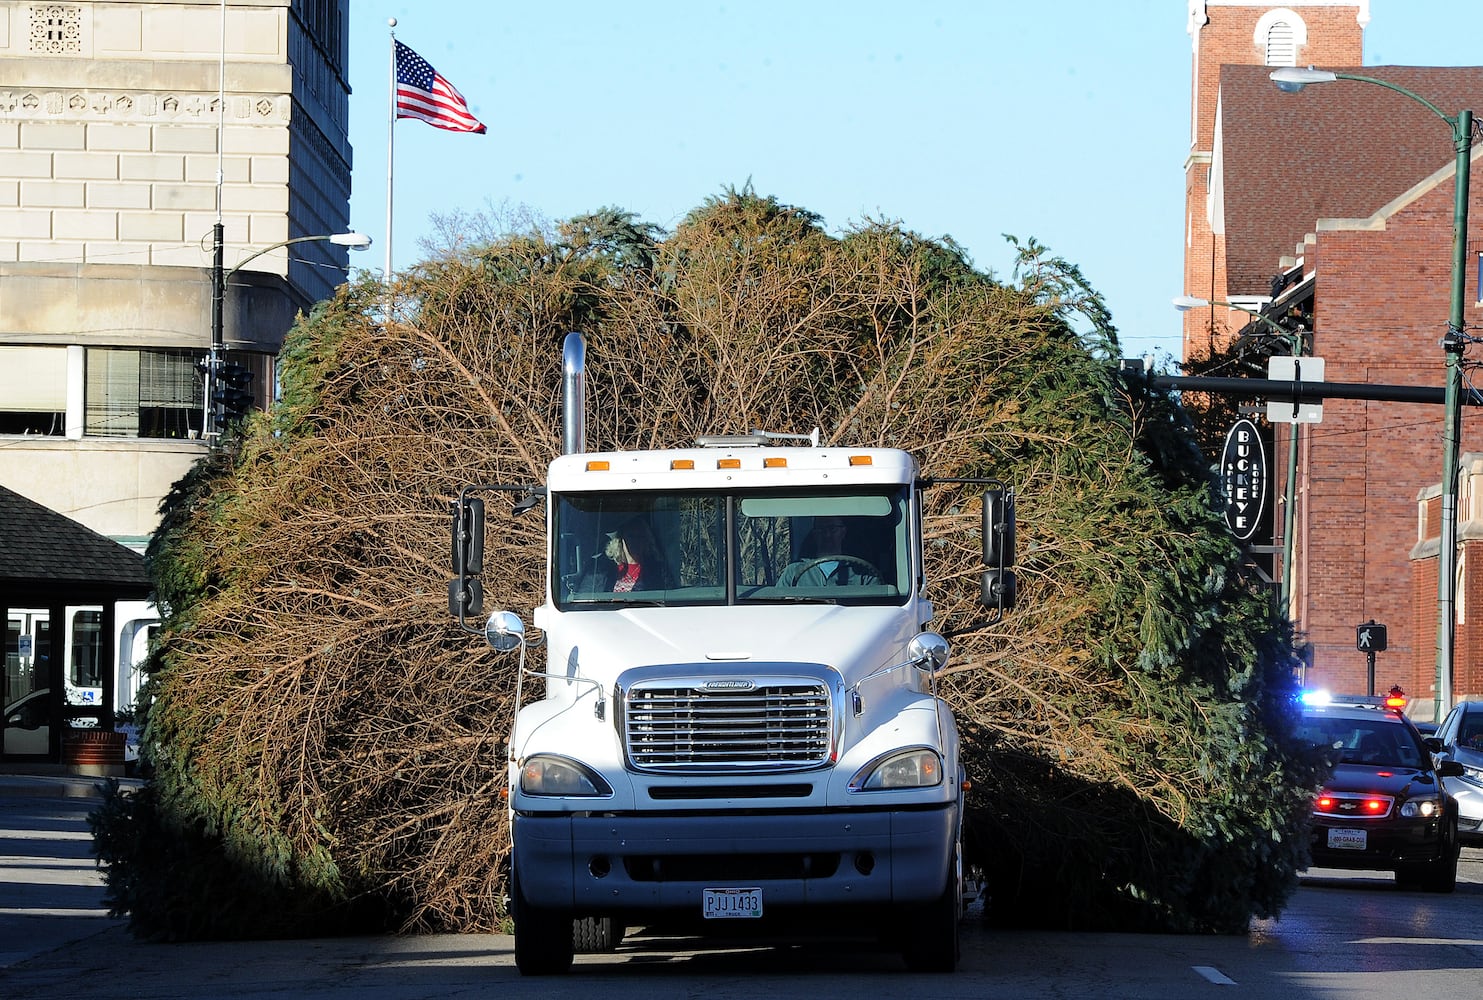
[[1005,932],[964,924],[955,975],[909,973],[872,942],[736,947],[641,936],[572,973],[525,979],[498,935],[147,944],[102,909],[87,853],[92,800],[16,794],[0,780],[0,997],[1330,997],[1477,996],[1483,850],[1450,895],[1390,875],[1308,872],[1278,920],[1246,936]]

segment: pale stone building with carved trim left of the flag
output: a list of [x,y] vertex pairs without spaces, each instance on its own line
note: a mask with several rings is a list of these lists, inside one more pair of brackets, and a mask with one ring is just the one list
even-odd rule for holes
[[[217,221],[224,273],[349,228],[347,31],[347,0],[0,1],[0,485],[153,533],[206,450]],[[346,267],[308,240],[231,273],[260,401]]]

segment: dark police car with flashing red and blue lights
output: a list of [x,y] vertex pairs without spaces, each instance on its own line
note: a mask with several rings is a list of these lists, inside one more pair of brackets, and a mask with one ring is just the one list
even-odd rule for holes
[[1312,864],[1393,871],[1397,884],[1452,892],[1458,881],[1456,761],[1379,699],[1305,699],[1301,736],[1330,767],[1314,800]]

